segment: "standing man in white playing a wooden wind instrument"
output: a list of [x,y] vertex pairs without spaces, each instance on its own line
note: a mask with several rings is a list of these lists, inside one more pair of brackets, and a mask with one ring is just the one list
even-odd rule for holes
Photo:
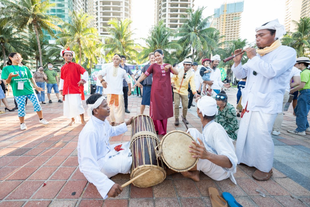
[[[284,26],[273,20],[255,29],[256,45],[245,52],[249,58],[241,64],[242,55],[234,58],[232,71],[238,79],[247,77],[241,90],[243,111],[238,131],[236,154],[238,163],[254,166],[252,177],[268,180],[272,175],[274,144],[272,126],[282,112],[282,100],[289,75],[296,60],[293,48],[282,46]],[[241,52],[240,50],[236,50]]]

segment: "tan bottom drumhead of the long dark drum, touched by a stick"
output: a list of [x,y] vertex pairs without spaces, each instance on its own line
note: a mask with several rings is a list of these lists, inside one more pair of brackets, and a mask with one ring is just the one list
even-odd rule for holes
[[148,169],[151,169],[151,171],[136,179],[132,184],[137,187],[151,187],[163,182],[166,178],[166,171],[163,168],[156,165],[141,165],[130,173],[130,179],[137,177]]

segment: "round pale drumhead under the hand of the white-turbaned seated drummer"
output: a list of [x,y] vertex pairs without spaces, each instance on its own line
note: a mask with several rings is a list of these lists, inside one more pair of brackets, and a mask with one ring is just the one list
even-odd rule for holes
[[192,136],[183,131],[171,131],[167,133],[160,143],[162,160],[172,170],[185,172],[192,169],[198,162],[198,158],[193,158],[189,146],[193,146],[195,141]]

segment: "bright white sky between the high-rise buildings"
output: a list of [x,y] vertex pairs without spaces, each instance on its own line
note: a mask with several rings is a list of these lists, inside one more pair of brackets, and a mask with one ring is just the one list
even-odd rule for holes
[[[227,1],[227,3],[238,1]],[[207,4],[206,4],[207,3]],[[204,17],[214,14],[214,9],[219,8],[224,1],[195,0],[194,9],[206,7]],[[135,29],[136,43],[144,44],[140,38],[147,38],[148,31],[154,25],[155,0],[132,0],[132,28]],[[255,41],[255,28],[274,19],[279,19],[284,24],[285,0],[244,0],[241,14],[241,38],[246,38],[249,43]]]

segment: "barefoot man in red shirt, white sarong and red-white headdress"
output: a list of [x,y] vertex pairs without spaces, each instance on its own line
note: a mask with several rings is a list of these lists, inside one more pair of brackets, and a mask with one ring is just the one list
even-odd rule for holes
[[60,55],[65,61],[60,70],[59,85],[59,91],[64,101],[64,116],[67,116],[68,119],[71,118],[69,126],[75,123],[75,117],[78,115],[81,117],[82,124],[85,125],[82,97],[84,97],[84,83],[88,80],[88,73],[81,65],[72,62],[74,52],[70,51],[69,47],[62,50]]

